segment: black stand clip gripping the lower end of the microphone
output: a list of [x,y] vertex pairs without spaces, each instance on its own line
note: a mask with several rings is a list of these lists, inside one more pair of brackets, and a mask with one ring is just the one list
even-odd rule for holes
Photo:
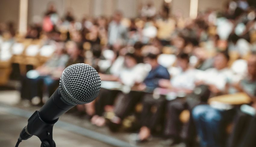
[[56,144],[54,140],[52,139],[52,129],[53,125],[58,121],[56,119],[55,121],[51,123],[47,123],[42,121],[42,119],[39,116],[39,111],[35,111],[33,115],[28,119],[28,127],[26,126],[22,132],[21,135],[23,136],[37,136],[41,140],[41,146],[40,147],[56,147]]

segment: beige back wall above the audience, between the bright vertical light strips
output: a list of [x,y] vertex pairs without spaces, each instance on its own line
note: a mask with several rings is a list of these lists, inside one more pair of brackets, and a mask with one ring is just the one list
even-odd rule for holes
[[[164,0],[29,0],[28,24],[35,20],[42,21],[42,16],[50,2],[55,3],[61,17],[70,7],[77,20],[81,20],[85,15],[111,16],[117,9],[123,11],[125,17],[136,17],[139,5],[149,1],[159,10]],[[198,11],[204,11],[208,7],[223,8],[225,1],[228,0],[198,0]],[[183,13],[184,17],[189,17],[190,0],[173,0],[170,6],[172,13],[178,11]],[[0,14],[0,22],[14,21],[18,26],[19,0],[0,0]]]

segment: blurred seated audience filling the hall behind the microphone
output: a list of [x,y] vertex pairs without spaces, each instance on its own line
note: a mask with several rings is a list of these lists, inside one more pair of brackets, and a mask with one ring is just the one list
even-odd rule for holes
[[[76,108],[92,124],[106,123],[111,131],[119,131],[129,119],[139,131],[136,141],[161,132],[173,145],[196,146],[198,135],[200,146],[251,147],[256,133],[253,5],[251,0],[231,0],[223,11],[208,9],[189,19],[171,13],[166,2],[159,11],[146,3],[132,19],[115,11],[111,18],[77,20],[70,8],[60,16],[51,3],[42,23],[30,24],[25,36],[17,34],[14,23],[0,24],[0,61],[3,68],[19,72],[21,98],[32,104],[51,96],[65,67],[92,65],[101,77],[100,94]],[[14,64],[18,69],[9,66]],[[9,79],[8,70],[3,73],[1,78]],[[251,104],[210,102],[241,92]],[[184,110],[191,116],[187,122],[180,118]],[[230,122],[234,126],[228,137]]]

